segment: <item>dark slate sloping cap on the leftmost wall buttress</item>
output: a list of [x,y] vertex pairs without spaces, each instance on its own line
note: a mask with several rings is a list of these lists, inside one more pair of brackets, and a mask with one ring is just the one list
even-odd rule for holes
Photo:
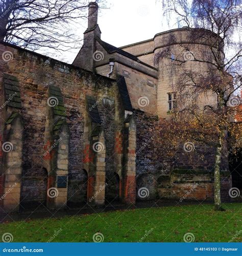
[[6,104],[12,106],[15,109],[21,109],[21,99],[19,93],[19,84],[15,76],[4,73],[4,90]]

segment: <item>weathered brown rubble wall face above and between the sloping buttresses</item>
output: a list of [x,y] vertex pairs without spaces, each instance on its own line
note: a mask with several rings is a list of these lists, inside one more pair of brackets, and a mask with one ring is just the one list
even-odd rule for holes
[[[47,99],[49,87],[55,85],[63,95],[66,121],[69,127],[69,165],[68,165],[68,199],[70,202],[86,201],[87,183],[83,170],[83,131],[85,113],[85,95],[93,95],[99,102],[102,126],[107,135],[107,172],[113,171],[112,151],[114,147],[114,101],[117,88],[114,81],[65,65],[65,63],[32,54],[19,48],[1,45],[3,52],[9,51],[13,58],[6,62],[0,60],[0,79],[3,73],[14,75],[19,81],[23,123],[23,151],[21,203],[46,201],[47,172],[43,153],[48,148],[44,142],[47,119]],[[1,83],[2,86],[2,83]],[[3,91],[3,87],[1,88]],[[3,95],[3,94],[2,94]],[[104,97],[105,95],[105,97]],[[103,98],[110,99],[106,104]],[[1,98],[4,101],[4,98]],[[2,109],[3,110],[3,109]],[[49,142],[50,143],[50,142]],[[50,158],[52,154],[50,154]]]

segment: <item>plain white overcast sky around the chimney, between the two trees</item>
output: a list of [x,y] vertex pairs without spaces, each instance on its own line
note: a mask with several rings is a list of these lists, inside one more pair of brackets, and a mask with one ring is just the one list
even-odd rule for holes
[[[150,39],[169,29],[165,18],[162,18],[161,3],[157,0],[107,0],[107,7],[99,11],[98,23],[102,40],[113,46]],[[170,28],[177,27],[170,25]],[[87,21],[82,21],[76,32],[82,35],[86,28]],[[77,53],[78,50],[65,53],[64,58],[71,63]]]

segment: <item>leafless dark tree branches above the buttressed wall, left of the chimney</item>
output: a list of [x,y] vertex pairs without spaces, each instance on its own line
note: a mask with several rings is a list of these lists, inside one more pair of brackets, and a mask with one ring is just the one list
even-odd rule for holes
[[87,0],[0,0],[0,41],[68,50],[80,42],[73,27],[87,18],[87,7]]

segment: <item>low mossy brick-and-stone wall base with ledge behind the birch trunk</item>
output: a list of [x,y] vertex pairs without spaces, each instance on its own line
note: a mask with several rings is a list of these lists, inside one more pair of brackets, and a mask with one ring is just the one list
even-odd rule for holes
[[[175,169],[158,179],[158,195],[162,199],[183,201],[213,201],[213,172],[207,170]],[[221,199],[229,201],[230,173],[221,172]]]

